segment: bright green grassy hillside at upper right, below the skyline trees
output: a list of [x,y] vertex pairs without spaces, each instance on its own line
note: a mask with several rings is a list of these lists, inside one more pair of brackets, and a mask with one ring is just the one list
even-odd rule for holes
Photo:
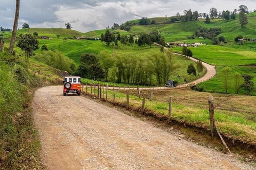
[[[219,36],[225,36],[228,42],[233,42],[234,38],[238,35],[243,35],[247,38],[256,38],[256,12],[248,14],[247,17],[249,24],[245,28],[241,28],[237,15],[236,20],[225,21],[223,19],[214,19],[211,20],[210,24],[206,24],[204,19],[199,19],[198,21],[177,22],[169,24],[134,25],[131,28],[131,32],[141,33],[161,31],[161,34],[165,37],[166,41],[181,41],[186,40],[187,36],[194,34],[196,28],[198,27],[220,27],[222,29],[222,33]],[[137,20],[129,22],[133,23],[135,21]],[[161,18],[161,20],[159,19],[159,23],[163,23],[163,21],[165,21],[165,18]]]

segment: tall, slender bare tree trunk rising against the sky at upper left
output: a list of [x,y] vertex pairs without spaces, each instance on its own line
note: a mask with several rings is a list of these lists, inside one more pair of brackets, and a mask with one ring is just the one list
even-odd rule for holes
[[15,19],[14,19],[14,24],[12,29],[12,39],[9,47],[9,54],[13,53],[13,48],[16,40],[17,29],[18,29],[19,14],[20,14],[20,0],[16,0],[16,12],[15,12]]

